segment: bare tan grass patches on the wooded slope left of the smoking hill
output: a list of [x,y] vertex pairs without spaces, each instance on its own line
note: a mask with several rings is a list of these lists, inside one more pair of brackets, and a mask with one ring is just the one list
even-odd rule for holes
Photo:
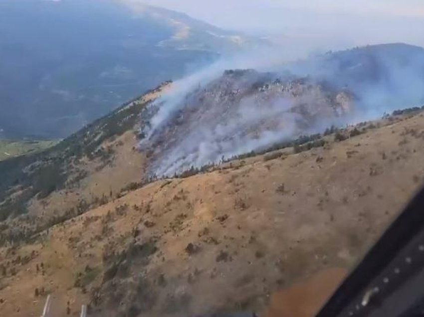
[[[144,95],[135,103],[149,103],[157,99],[163,89],[166,86]],[[131,109],[132,106],[134,104],[120,109],[120,112]],[[121,135],[105,138],[93,151],[95,153],[100,150],[101,155],[84,156],[73,161],[67,166],[66,185],[43,199],[31,199],[28,205],[29,214],[49,218],[81,204],[87,205],[84,209],[90,208],[138,186],[146,164],[145,155],[137,150],[138,133],[139,124],[135,123]]]

